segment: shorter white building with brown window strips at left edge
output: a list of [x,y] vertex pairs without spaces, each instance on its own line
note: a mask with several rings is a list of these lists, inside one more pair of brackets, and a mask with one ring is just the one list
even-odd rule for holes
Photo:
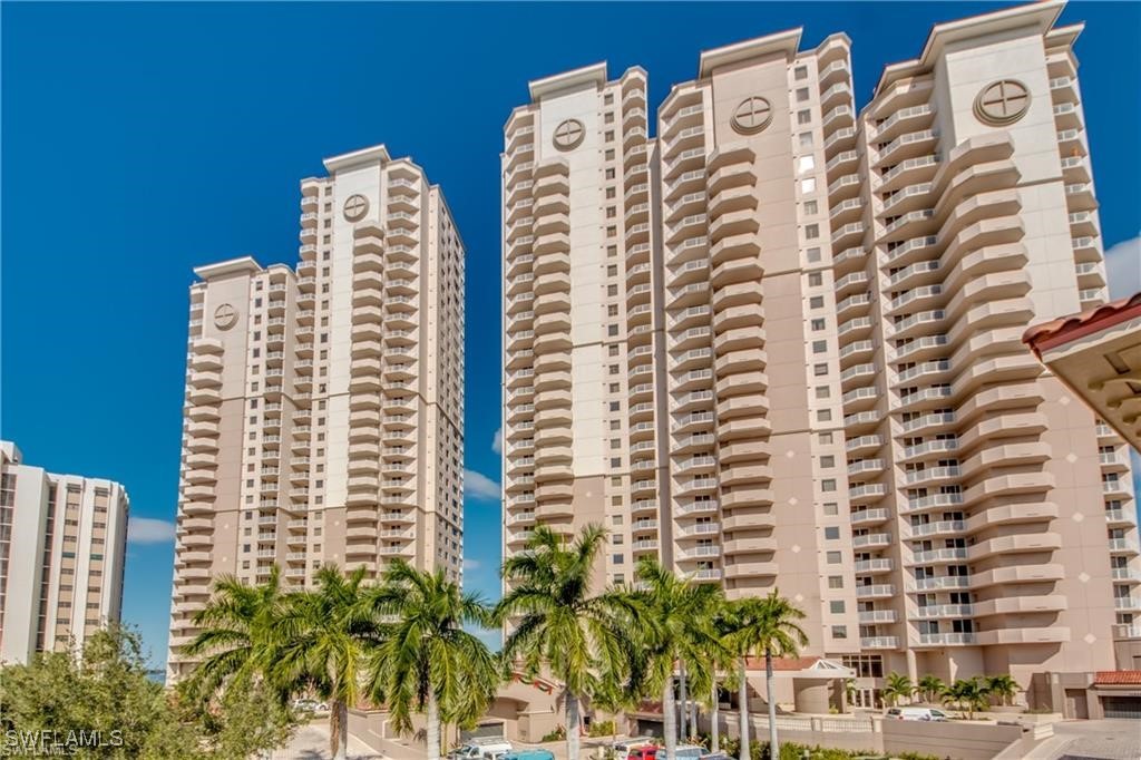
[[0,442],[0,664],[79,650],[119,622],[129,503],[118,483],[46,472]]

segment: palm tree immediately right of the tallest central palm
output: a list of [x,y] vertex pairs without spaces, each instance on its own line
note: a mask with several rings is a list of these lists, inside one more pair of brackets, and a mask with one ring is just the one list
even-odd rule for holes
[[[639,561],[636,574],[646,589],[638,592],[639,600],[647,618],[655,622],[647,628],[640,676],[648,689],[662,695],[665,757],[672,758],[678,747],[673,670],[678,666],[696,693],[707,693],[712,687],[715,665],[709,654],[721,649],[713,621],[723,597],[720,587],[678,577],[656,559]],[[681,694],[685,702],[686,692]]]

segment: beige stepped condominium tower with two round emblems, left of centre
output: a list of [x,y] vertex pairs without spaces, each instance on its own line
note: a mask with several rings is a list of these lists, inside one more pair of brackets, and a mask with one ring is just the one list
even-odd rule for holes
[[463,244],[383,146],[301,183],[297,269],[195,269],[170,671],[211,580],[462,574]]

